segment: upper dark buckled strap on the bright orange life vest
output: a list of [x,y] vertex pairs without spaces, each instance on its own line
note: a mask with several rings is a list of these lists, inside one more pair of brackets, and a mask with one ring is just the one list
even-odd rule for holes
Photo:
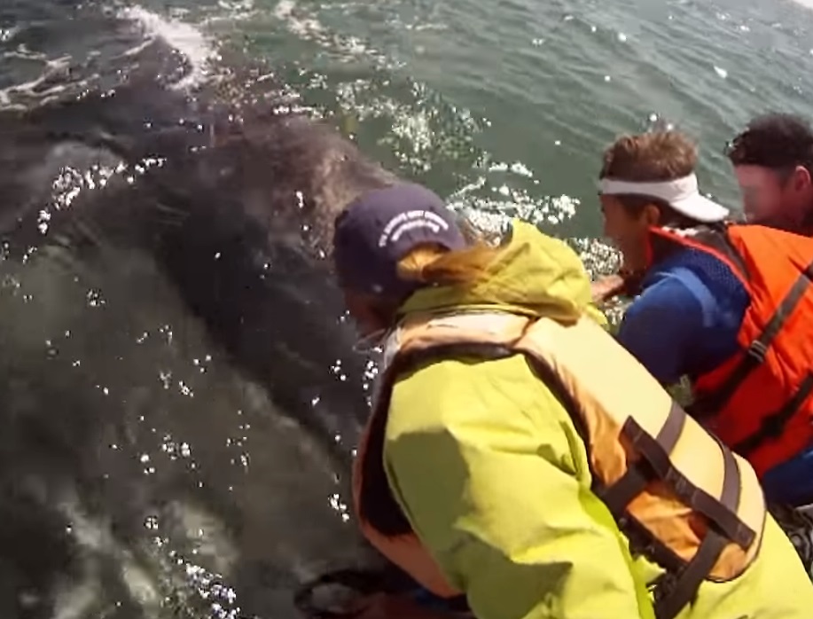
[[718,411],[723,410],[723,407],[728,404],[731,396],[739,389],[743,381],[748,378],[748,375],[765,361],[765,356],[768,354],[770,344],[785,325],[787,318],[793,314],[793,310],[796,309],[796,306],[801,301],[801,297],[807,292],[808,286],[810,286],[811,283],[813,283],[813,262],[810,262],[805,270],[801,272],[799,278],[793,282],[790,291],[779,303],[773,316],[770,317],[765,330],[762,331],[756,340],[751,342],[751,345],[746,351],[746,355],[734,368],[734,371],[731,372],[731,376],[729,376],[728,380],[725,380],[722,387],[716,389],[713,394],[700,398],[700,400],[692,404],[691,411],[693,416],[699,419],[712,417]]

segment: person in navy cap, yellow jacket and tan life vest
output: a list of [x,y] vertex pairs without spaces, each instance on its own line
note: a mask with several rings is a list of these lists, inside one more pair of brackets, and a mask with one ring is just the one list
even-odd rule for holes
[[371,544],[479,619],[807,619],[753,469],[606,333],[575,253],[456,221],[398,184],[335,223],[348,310],[384,346],[354,480]]

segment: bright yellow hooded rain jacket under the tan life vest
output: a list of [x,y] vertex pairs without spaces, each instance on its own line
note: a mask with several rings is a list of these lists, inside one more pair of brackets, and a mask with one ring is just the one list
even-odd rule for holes
[[[489,275],[466,289],[420,291],[403,312],[587,314],[606,325],[578,257],[533,226],[514,224]],[[574,419],[524,357],[442,360],[406,372],[392,390],[384,435],[385,483],[419,540],[416,552],[428,551],[438,576],[465,592],[479,619],[653,618],[647,588],[662,570],[632,557],[627,537],[590,490]],[[769,516],[746,572],[727,583],[705,581],[678,617],[811,613],[813,585]]]

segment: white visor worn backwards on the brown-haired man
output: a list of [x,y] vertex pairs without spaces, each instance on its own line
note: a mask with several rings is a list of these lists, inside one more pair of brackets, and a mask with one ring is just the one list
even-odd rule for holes
[[700,195],[697,176],[690,174],[673,181],[655,183],[635,183],[602,178],[598,183],[601,193],[608,196],[647,196],[660,198],[678,213],[692,217],[699,222],[722,222],[729,215],[729,209],[714,200]]

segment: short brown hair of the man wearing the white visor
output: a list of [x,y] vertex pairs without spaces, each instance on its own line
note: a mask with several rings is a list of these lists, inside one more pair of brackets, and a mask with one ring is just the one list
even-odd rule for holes
[[[599,178],[615,178],[639,183],[671,181],[689,176],[697,165],[697,146],[679,131],[653,131],[636,136],[621,136],[604,152]],[[661,223],[677,228],[692,228],[700,222],[678,213],[660,198],[640,195],[614,196],[632,216],[639,216],[654,205]]]

